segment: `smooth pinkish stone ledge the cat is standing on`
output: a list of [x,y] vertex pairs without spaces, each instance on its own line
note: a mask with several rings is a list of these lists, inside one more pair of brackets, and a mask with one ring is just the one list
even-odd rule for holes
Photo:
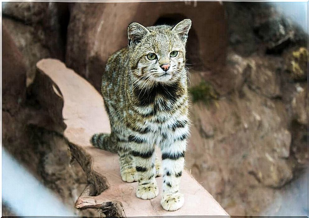
[[[181,189],[185,194],[185,204],[181,209],[173,212],[165,211],[160,205],[160,197],[152,200],[137,198],[134,191],[137,183],[125,183],[120,178],[117,155],[96,149],[89,142],[93,133],[110,132],[101,95],[86,80],[58,60],[44,59],[38,62],[37,67],[57,84],[62,93],[63,118],[67,125],[64,136],[70,143],[73,155],[86,171],[88,181],[97,191],[102,189],[102,186],[93,181],[94,178],[102,180],[101,183],[106,185],[104,189],[107,188],[102,193],[98,192],[97,196],[81,196],[77,200],[78,207],[119,201],[126,216],[228,216],[213,197],[187,172],[184,173],[181,183]],[[162,178],[158,177],[157,181],[161,189]],[[196,202],[203,202],[207,207],[200,207]]]

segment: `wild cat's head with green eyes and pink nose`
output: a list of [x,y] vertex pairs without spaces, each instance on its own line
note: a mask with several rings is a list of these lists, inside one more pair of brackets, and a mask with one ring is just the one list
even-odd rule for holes
[[185,44],[191,20],[168,25],[128,27],[130,69],[139,86],[173,83],[185,78]]

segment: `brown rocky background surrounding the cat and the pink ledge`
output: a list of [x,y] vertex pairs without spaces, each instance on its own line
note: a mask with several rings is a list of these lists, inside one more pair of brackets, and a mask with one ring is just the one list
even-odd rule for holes
[[[160,14],[166,6],[170,13]],[[147,8],[152,14],[140,12]],[[87,178],[62,136],[62,101],[46,99],[35,63],[60,59],[99,90],[106,59],[127,44],[130,22],[185,17],[193,20],[186,167],[230,215],[276,215],[288,193],[296,199],[303,191],[290,184],[308,163],[308,50],[302,29],[265,3],[5,3],[3,146],[74,207]],[[11,213],[2,207],[3,216]]]

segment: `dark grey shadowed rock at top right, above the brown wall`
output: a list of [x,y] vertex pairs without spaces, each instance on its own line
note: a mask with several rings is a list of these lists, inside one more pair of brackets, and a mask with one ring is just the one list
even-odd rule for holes
[[275,5],[224,2],[223,6],[227,12],[229,47],[241,56],[256,52],[280,55],[289,46],[307,45],[307,33]]

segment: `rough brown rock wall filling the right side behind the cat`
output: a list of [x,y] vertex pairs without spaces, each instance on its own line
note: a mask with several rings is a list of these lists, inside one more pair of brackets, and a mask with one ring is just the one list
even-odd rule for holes
[[[230,215],[267,215],[308,162],[307,69],[301,67],[308,63],[307,39],[270,6],[224,6],[229,47],[218,72],[230,84],[222,85],[216,72],[191,70],[194,125],[186,165]],[[294,187],[295,201],[303,191]]]

